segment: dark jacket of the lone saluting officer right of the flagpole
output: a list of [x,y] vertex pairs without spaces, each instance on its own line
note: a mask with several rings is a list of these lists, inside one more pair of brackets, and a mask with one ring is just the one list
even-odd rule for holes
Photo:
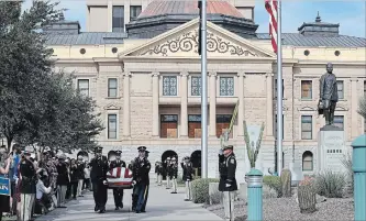
[[[220,161],[222,161],[222,158]],[[236,159],[234,154],[224,157],[223,162],[220,162],[219,191],[237,190],[235,172],[236,172]]]

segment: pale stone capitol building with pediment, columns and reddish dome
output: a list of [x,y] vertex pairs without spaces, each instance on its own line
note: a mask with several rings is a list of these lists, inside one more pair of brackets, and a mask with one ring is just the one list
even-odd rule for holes
[[[98,137],[104,154],[122,150],[129,162],[136,147],[145,145],[152,163],[170,155],[179,162],[191,156],[200,167],[197,1],[88,0],[86,9],[86,32],[66,18],[44,33],[56,70],[74,73],[75,86],[96,100],[106,126]],[[344,131],[345,146],[366,131],[357,114],[358,100],[366,95],[366,38],[342,35],[342,23],[315,15],[282,34],[284,166],[293,159],[304,174],[314,173],[319,164],[318,132],[325,121],[317,107],[326,63],[333,63],[339,80],[334,122]],[[275,167],[278,90],[269,34],[256,32],[254,1],[208,1],[208,20],[209,177],[217,176],[219,136],[237,101],[230,134],[236,176],[243,179],[249,169],[244,120],[253,141],[265,124],[257,164],[266,173]]]

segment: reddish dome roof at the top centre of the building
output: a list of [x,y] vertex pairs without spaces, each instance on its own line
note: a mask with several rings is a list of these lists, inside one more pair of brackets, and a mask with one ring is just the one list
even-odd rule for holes
[[[226,1],[207,1],[208,14],[224,14],[243,18],[243,14]],[[138,18],[155,16],[163,14],[199,14],[198,1],[152,1]]]

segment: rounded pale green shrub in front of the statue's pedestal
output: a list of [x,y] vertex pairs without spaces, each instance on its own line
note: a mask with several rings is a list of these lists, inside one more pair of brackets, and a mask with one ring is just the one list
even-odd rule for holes
[[320,196],[342,198],[346,185],[346,177],[342,173],[322,172],[315,177],[315,190]]

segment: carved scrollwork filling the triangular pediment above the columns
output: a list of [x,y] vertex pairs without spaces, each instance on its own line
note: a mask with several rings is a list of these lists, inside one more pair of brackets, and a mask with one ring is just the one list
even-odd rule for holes
[[[175,40],[169,40],[163,44],[156,45],[153,48],[143,51],[140,55],[163,55],[168,56],[169,53],[178,52],[191,52],[198,53],[198,30],[192,30],[187,32]],[[251,56],[257,57],[258,55],[254,52],[251,52],[246,48],[237,46],[229,41],[223,40],[222,37],[208,32],[207,34],[207,51],[217,52],[220,54],[230,53],[231,55],[237,56]]]

